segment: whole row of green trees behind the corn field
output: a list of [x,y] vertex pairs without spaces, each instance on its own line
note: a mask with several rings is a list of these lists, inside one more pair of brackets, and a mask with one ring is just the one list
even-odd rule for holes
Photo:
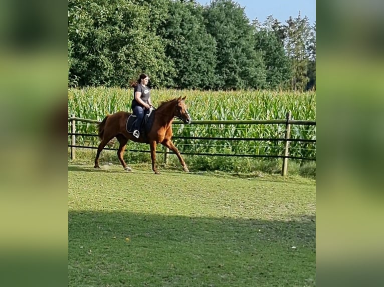
[[307,90],[316,23],[250,21],[233,0],[69,0],[68,85]]

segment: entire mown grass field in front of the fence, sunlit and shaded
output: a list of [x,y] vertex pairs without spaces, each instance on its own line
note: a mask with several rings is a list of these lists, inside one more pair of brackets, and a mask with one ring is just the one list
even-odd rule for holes
[[315,285],[315,180],[132,167],[68,166],[69,286]]

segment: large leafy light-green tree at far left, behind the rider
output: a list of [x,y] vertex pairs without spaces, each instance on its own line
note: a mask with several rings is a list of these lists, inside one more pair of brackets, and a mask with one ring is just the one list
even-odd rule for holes
[[69,0],[69,77],[81,86],[126,86],[144,71],[160,86],[171,65],[149,13],[134,0]]

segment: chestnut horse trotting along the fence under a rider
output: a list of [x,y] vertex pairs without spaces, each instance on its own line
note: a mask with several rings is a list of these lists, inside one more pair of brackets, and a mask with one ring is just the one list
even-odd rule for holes
[[185,164],[184,159],[181,157],[180,152],[174,146],[171,137],[172,137],[172,121],[173,118],[179,118],[184,123],[190,123],[191,119],[185,105],[185,97],[178,97],[170,99],[168,101],[163,101],[160,105],[153,110],[153,124],[147,134],[141,134],[139,138],[136,138],[129,133],[126,129],[126,123],[128,117],[131,115],[130,112],[118,111],[113,114],[108,114],[104,119],[98,124],[98,135],[100,138],[100,144],[97,148],[97,154],[95,157],[95,168],[100,168],[99,166],[99,156],[100,152],[103,150],[104,146],[114,137],[119,141],[119,148],[117,150],[117,157],[119,158],[123,168],[130,171],[131,168],[127,166],[123,159],[123,153],[127,145],[128,140],[132,140],[140,143],[149,143],[151,159],[152,159],[152,170],[155,174],[159,174],[156,168],[156,145],[161,143],[162,145],[168,147],[172,150],[178,157],[178,160],[181,163],[182,169],[185,172],[189,172],[188,167]]

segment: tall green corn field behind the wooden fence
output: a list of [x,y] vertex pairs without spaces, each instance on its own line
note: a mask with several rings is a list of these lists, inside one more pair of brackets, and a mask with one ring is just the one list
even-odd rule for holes
[[[316,120],[316,93],[276,91],[198,91],[152,89],[154,106],[161,101],[186,96],[185,103],[193,120],[285,119],[288,111],[292,119]],[[69,89],[68,113],[76,117],[102,120],[105,115],[119,110],[131,111],[133,89],[84,88]],[[68,129],[70,127],[68,126]],[[76,132],[96,133],[92,123],[76,123]],[[173,136],[283,138],[285,124],[215,124],[173,125]],[[291,138],[316,139],[316,126],[292,125]],[[174,139],[181,152],[226,154],[283,154],[283,141],[233,141]],[[97,146],[97,137],[77,136],[77,144]],[[145,149],[129,142],[129,149]],[[148,149],[148,148],[147,148]],[[314,143],[291,142],[290,155],[315,157]]]

